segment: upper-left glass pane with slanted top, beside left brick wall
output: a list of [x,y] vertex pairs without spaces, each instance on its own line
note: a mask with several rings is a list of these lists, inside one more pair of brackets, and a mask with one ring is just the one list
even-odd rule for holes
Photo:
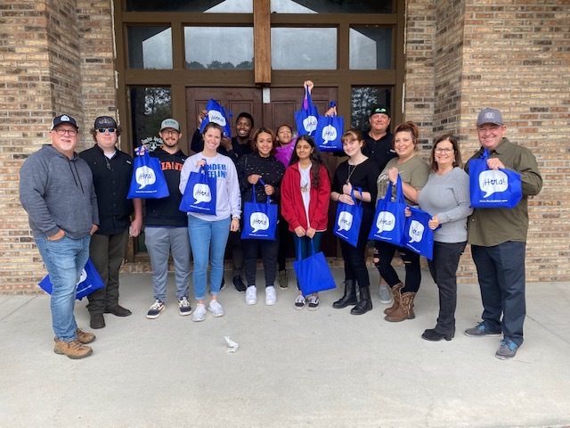
[[172,69],[170,27],[129,27],[127,31],[131,69]]

